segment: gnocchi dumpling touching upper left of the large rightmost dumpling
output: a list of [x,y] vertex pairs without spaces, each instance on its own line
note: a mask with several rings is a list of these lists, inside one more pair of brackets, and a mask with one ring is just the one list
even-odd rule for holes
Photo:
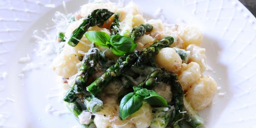
[[191,88],[191,85],[197,82],[201,77],[200,66],[196,62],[190,62],[189,64],[183,63],[180,72],[178,80],[184,91]]

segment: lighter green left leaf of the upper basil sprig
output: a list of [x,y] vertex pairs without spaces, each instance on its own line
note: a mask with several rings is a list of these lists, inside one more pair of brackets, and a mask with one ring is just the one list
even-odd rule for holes
[[103,47],[107,47],[106,42],[110,40],[110,36],[102,31],[87,31],[85,37],[90,42],[94,42],[96,45]]

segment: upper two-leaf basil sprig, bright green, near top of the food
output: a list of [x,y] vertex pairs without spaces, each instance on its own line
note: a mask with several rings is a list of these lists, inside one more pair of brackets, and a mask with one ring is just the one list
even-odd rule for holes
[[85,37],[98,46],[109,47],[114,54],[119,56],[130,53],[137,47],[137,43],[130,37],[121,35],[109,36],[102,31],[88,31],[85,33]]

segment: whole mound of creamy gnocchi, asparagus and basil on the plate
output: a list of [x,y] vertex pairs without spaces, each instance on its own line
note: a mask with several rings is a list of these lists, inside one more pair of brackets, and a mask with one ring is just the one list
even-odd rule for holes
[[145,20],[138,6],[95,2],[58,31],[53,69],[63,100],[85,128],[193,128],[216,82],[204,76],[202,33]]

